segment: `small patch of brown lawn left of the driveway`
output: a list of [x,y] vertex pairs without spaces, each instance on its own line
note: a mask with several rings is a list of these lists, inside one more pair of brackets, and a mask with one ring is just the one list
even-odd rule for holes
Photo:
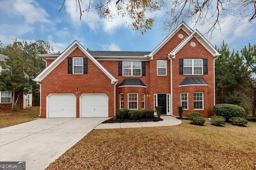
[[18,125],[39,118],[40,107],[28,107],[18,111],[0,110],[0,128]]

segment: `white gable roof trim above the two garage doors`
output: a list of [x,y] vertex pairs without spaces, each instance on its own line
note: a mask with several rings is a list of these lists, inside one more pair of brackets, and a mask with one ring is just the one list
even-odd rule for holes
[[108,76],[108,78],[110,78],[112,84],[117,82],[116,78],[114,78],[114,76],[112,76],[106,70],[106,68],[104,68],[96,59],[94,59],[94,57],[92,57],[92,55],[90,55],[90,53],[88,53],[88,51],[86,51],[86,49],[84,49],[84,47],[82,47],[82,45],[80,45],[80,43],[78,43],[78,41],[76,40],[63,53],[61,53],[48,67],[46,67],[46,69],[44,69],[36,78],[34,78],[34,81],[41,82],[50,72],[52,72],[52,70],[54,70],[54,68],[56,68],[56,66],[58,66],[62,61],[64,61],[64,59],[66,59],[66,57],[68,57],[68,55],[72,53],[72,51],[74,51],[77,47],[83,53],[85,53],[88,56],[88,58],[96,66],[98,66],[98,68],[100,68],[100,70],[102,70],[102,72],[104,72],[106,76]]

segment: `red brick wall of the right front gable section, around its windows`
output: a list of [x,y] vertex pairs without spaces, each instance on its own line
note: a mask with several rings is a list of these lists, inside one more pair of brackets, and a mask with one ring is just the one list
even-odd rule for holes
[[[190,42],[195,41],[196,46],[192,47]],[[209,84],[208,86],[184,86],[179,87],[180,82],[188,76],[192,75],[180,75],[179,74],[179,59],[181,58],[201,58],[208,59],[208,74],[207,75],[193,75],[197,77],[203,77],[204,80]],[[178,116],[178,106],[181,104],[180,93],[188,92],[188,110],[184,110],[184,115],[188,112],[199,112],[202,117],[210,117],[214,115],[213,106],[214,106],[214,58],[213,56],[196,40],[192,38],[175,56],[175,59],[172,59],[172,99],[173,99],[173,115]],[[194,110],[194,92],[203,92],[204,93],[204,109],[203,110]]]

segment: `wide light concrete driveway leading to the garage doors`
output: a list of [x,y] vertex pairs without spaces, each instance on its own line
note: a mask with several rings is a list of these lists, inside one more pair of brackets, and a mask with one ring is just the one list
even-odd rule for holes
[[0,161],[26,161],[43,170],[109,118],[48,118],[0,129]]

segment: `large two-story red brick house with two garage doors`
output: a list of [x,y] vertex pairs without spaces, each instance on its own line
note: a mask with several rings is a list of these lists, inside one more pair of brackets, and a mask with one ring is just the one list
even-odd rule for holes
[[91,51],[74,41],[62,54],[40,55],[42,118],[113,117],[116,109],[178,116],[178,106],[214,115],[214,60],[220,54],[181,23],[153,51]]

